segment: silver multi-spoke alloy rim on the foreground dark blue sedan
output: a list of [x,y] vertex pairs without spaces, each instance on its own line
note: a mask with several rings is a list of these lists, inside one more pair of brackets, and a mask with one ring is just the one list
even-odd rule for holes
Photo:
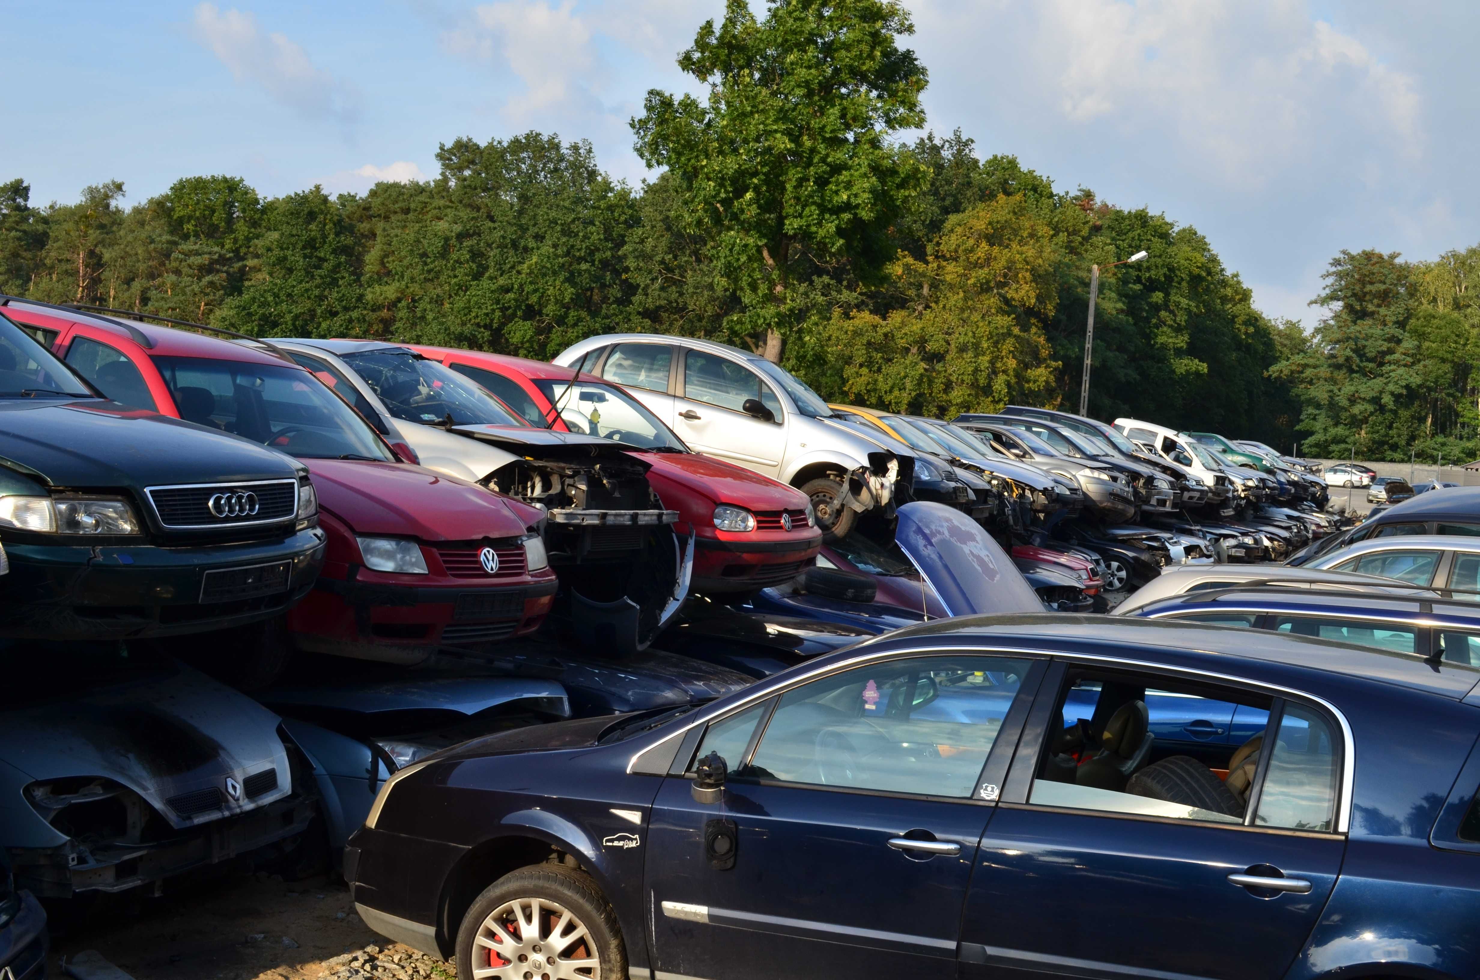
[[599,980],[591,931],[549,899],[514,899],[472,940],[474,980]]

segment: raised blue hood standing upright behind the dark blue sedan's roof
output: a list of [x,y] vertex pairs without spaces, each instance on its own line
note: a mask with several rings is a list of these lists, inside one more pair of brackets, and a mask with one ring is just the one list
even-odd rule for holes
[[952,616],[1043,607],[1002,546],[944,503],[916,500],[901,506],[894,540]]

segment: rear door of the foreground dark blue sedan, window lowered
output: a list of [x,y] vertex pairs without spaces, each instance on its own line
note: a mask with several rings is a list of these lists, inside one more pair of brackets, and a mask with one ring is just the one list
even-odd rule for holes
[[[1181,756],[1132,767],[1114,788],[1107,774],[1134,762],[1122,752],[1147,745],[1134,725],[1117,730],[1126,742],[1107,749],[1104,764],[1076,767],[1061,752],[1064,697],[1094,679],[1119,699],[1111,722],[1146,711],[1140,691],[1199,694],[1268,712],[1262,743],[1274,748],[1265,754],[1261,743],[1240,758],[1233,754],[1246,746],[1228,746],[1240,761],[1237,779]],[[1345,850],[1350,746],[1342,731],[1316,702],[1254,685],[1224,688],[1196,674],[1106,662],[1055,663],[978,848],[962,976],[1283,976],[1320,916]],[[1086,768],[1095,771],[1086,777]],[[1171,799],[1169,773],[1194,782],[1206,805]]]

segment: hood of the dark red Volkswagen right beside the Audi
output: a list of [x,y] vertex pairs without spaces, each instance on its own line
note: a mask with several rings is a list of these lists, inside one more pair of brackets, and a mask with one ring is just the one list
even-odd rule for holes
[[425,542],[517,537],[521,521],[499,494],[408,463],[309,459],[318,505],[360,534]]

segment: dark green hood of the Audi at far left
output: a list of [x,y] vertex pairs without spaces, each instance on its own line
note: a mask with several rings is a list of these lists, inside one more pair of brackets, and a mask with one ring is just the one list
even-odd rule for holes
[[258,443],[112,401],[0,401],[0,465],[55,487],[152,487],[296,478]]

